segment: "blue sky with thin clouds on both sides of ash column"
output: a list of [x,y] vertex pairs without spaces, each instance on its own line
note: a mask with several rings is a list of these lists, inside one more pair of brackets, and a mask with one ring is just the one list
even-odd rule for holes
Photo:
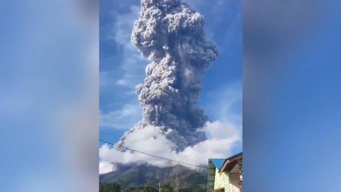
[[[211,120],[241,125],[242,17],[241,2],[187,0],[205,16],[207,37],[218,45],[220,56],[202,79],[199,105]],[[99,11],[99,135],[116,142],[141,119],[134,87],[143,81],[148,61],[130,44],[138,0],[101,0]],[[210,9],[207,7],[210,6]],[[241,150],[236,149],[236,151]]]

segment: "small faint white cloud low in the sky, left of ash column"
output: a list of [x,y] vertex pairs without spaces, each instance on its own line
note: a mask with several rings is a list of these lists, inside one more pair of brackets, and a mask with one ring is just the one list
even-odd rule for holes
[[126,104],[117,111],[99,113],[99,125],[116,129],[127,129],[142,118],[141,106]]

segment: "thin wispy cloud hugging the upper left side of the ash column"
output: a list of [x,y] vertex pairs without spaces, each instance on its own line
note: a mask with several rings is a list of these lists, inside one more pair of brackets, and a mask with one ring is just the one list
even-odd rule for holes
[[[117,44],[117,49],[122,52],[122,59],[114,71],[100,73],[101,85],[113,84],[133,89],[145,77],[147,60],[141,57],[140,52],[130,43],[130,34],[133,23],[138,17],[140,7],[132,5],[126,13],[114,12],[115,17],[112,32],[108,40],[112,39]],[[113,63],[114,64],[114,63]],[[116,64],[117,65],[117,64]]]

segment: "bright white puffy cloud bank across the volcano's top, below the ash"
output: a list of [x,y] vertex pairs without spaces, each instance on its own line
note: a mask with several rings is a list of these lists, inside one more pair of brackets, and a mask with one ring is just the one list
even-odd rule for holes
[[[125,140],[125,146],[171,160],[206,165],[209,158],[227,158],[230,156],[232,146],[236,142],[241,141],[240,131],[231,124],[223,124],[216,121],[207,123],[203,130],[206,131],[207,135],[212,136],[212,138],[195,144],[194,146],[189,146],[179,153],[171,151],[172,142],[159,134],[157,129],[152,126],[131,133],[130,137],[127,137]],[[175,162],[162,160],[145,154],[117,151],[108,144],[100,147],[99,158],[102,163],[113,162],[127,164],[147,162],[160,167],[176,164]]]

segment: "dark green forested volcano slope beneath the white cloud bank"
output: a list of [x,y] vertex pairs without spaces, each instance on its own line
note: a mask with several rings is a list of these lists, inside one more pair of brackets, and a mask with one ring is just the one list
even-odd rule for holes
[[206,192],[206,170],[182,165],[116,164],[115,171],[99,176],[99,192]]

